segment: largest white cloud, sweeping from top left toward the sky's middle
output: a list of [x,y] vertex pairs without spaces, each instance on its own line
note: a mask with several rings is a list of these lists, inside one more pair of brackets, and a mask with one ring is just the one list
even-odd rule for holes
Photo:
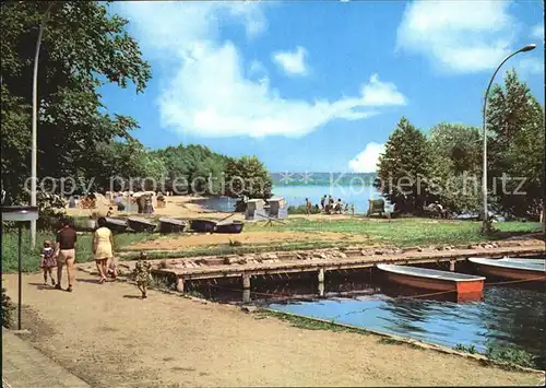
[[[246,64],[234,43],[222,42],[218,34],[221,23],[241,23],[256,37],[266,26],[262,3],[121,2],[119,7],[136,28],[146,55],[168,61],[157,99],[161,124],[179,133],[301,137],[334,119],[364,119],[382,106],[406,103],[394,84],[381,82],[377,74],[354,97],[312,103],[281,97],[263,64],[257,60]],[[251,8],[244,12],[242,7]]]

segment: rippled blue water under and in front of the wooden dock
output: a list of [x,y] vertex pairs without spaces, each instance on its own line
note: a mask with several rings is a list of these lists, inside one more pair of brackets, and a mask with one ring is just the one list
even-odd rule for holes
[[[458,272],[473,273],[461,264]],[[240,279],[217,284],[189,282],[188,290],[224,303],[244,302]],[[319,297],[316,273],[293,274],[290,281],[252,278],[250,303],[280,311],[322,318],[448,348],[488,345],[523,349],[546,368],[546,284],[499,285],[486,281],[482,297],[458,302],[454,294],[428,297],[430,291],[396,286],[375,269],[328,272]],[[402,297],[401,297],[402,296]]]

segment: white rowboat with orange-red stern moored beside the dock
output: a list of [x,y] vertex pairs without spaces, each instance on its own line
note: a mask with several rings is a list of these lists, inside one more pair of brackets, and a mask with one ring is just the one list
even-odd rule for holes
[[394,264],[377,264],[377,268],[393,283],[412,287],[458,294],[480,293],[484,290],[484,277]]

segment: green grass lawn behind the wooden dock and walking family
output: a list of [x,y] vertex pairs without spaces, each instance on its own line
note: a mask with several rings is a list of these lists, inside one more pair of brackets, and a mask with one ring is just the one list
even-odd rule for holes
[[[371,244],[382,244],[395,247],[428,246],[428,245],[462,245],[483,242],[485,239],[501,239],[511,235],[520,235],[541,231],[541,224],[536,222],[502,222],[494,224],[499,232],[491,236],[484,237],[479,234],[480,224],[470,221],[434,221],[428,219],[400,219],[392,220],[369,220],[363,217],[355,219],[332,219],[332,220],[307,220],[293,217],[284,220],[284,224],[274,223],[272,226],[264,226],[263,222],[247,223],[246,232],[252,231],[275,231],[275,232],[307,232],[317,234],[318,232],[336,232],[345,235],[368,236]],[[16,231],[3,231],[2,234],[2,272],[12,272],[17,269],[17,234]],[[38,248],[29,248],[29,234],[27,231],[23,235],[23,270],[32,272],[38,270],[39,251],[45,239],[52,239],[54,234],[39,233]],[[79,236],[76,246],[78,262],[92,260],[91,233]],[[134,233],[115,235],[115,251],[130,250],[130,245],[136,242],[152,240],[158,238],[159,234]],[[168,237],[166,237],[168,238]],[[271,244],[242,244],[232,246],[229,244],[200,246],[185,250],[171,250],[163,252],[150,252],[150,258],[181,258],[197,256],[214,256],[228,254],[251,254],[273,250],[295,250],[295,249],[319,249],[348,246],[349,242],[340,237],[340,240],[317,239],[306,242],[286,242]],[[123,259],[133,259],[136,251],[123,256]]]

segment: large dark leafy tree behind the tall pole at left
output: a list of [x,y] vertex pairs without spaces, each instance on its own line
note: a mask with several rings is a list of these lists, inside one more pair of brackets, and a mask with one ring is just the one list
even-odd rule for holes
[[2,3],[2,186],[23,200],[31,174],[32,82],[39,26],[38,177],[91,177],[100,168],[99,144],[129,139],[130,117],[109,115],[98,87],[133,84],[142,92],[151,69],[128,21],[98,1]]

